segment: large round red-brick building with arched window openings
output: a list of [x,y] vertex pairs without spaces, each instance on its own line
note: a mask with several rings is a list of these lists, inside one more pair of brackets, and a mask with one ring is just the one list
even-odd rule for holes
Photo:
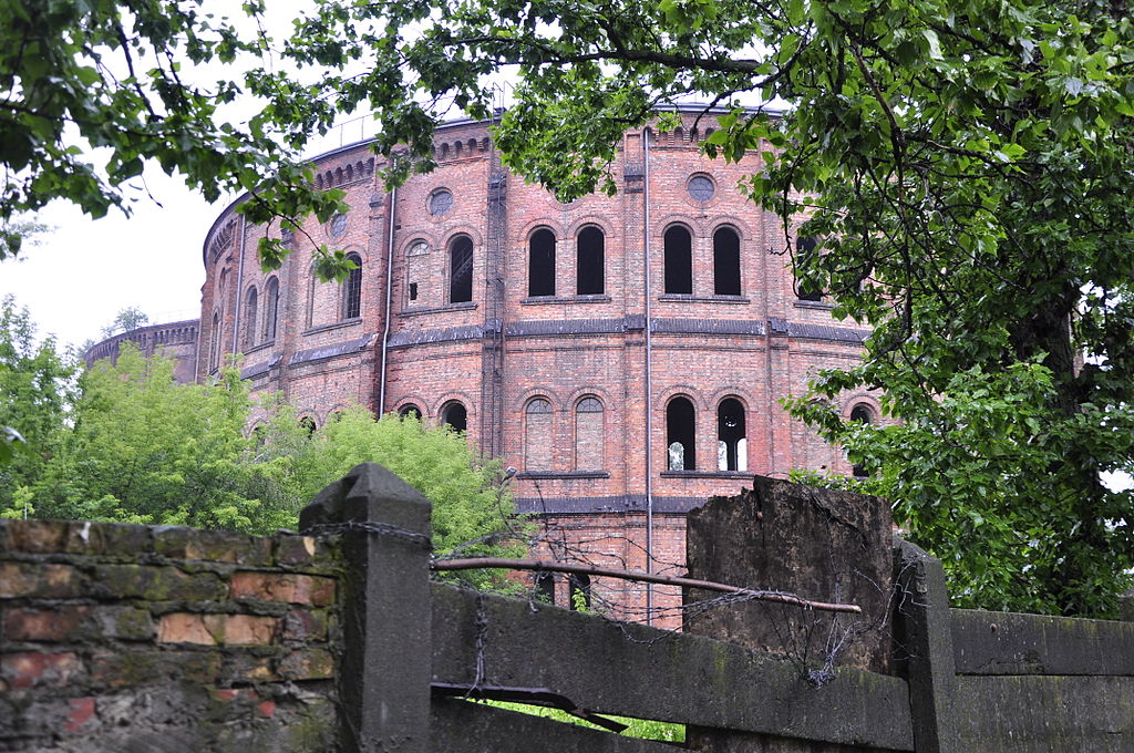
[[[448,422],[517,469],[553,553],[680,569],[684,515],[706,497],[753,473],[849,473],[778,399],[856,361],[865,335],[801,295],[784,253],[797,239],[737,187],[759,153],[709,160],[697,112],[626,132],[618,194],[566,204],[501,168],[485,122],[442,126],[438,169],[392,193],[365,143],[316,158],[316,185],[352,210],[310,220],[282,269],[256,260],[278,228],[235,205],[209,230],[196,378],[243,354],[254,389],[316,425],[352,403]],[[347,282],[312,274],[322,243],[359,264]],[[841,408],[878,415],[866,394]],[[568,583],[543,585],[568,600]],[[627,615],[678,598],[594,585]]]

